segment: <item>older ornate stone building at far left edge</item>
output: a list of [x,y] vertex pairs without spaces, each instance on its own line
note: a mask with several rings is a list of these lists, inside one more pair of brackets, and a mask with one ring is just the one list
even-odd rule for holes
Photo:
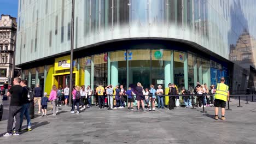
[[13,74],[13,55],[16,43],[16,18],[1,15],[0,19],[0,85],[10,81]]

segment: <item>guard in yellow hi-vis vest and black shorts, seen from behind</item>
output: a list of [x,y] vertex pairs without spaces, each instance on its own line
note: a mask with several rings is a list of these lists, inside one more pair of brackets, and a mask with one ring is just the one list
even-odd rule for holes
[[224,84],[225,79],[222,77],[220,83],[217,84],[214,106],[215,106],[215,118],[218,119],[219,107],[222,108],[222,120],[225,120],[225,107],[226,101],[229,101],[229,86]]

